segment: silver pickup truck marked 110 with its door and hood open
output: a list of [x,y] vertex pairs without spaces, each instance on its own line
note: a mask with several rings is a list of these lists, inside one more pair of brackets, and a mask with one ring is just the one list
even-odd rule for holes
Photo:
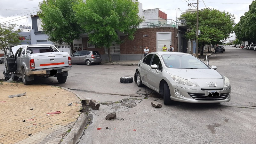
[[17,45],[5,50],[4,64],[6,72],[13,80],[22,78],[24,85],[34,80],[34,76],[57,77],[59,83],[65,83],[71,59],[68,52],[60,52],[51,44]]

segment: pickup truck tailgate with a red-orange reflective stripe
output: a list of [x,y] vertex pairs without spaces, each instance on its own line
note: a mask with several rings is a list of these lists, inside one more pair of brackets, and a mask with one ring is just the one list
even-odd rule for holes
[[35,69],[58,68],[68,66],[67,52],[44,52],[33,54]]

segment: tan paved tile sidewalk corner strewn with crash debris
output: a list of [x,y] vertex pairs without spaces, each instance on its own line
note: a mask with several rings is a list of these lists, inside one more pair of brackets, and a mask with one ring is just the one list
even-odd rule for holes
[[[80,115],[80,99],[59,87],[0,82],[0,90],[1,144],[60,143]],[[60,114],[47,115],[56,111]]]

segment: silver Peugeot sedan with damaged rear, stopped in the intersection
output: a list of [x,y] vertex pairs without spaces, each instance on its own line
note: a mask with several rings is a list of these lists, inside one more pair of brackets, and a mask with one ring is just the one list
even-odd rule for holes
[[172,101],[219,103],[230,101],[231,85],[226,76],[195,56],[182,52],[151,52],[138,63],[135,82],[164,95],[164,104]]

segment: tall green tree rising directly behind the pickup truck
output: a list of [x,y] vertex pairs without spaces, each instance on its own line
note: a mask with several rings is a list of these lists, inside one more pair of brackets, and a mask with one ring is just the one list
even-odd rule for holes
[[49,40],[56,44],[68,44],[72,53],[73,41],[79,39],[83,33],[75,19],[73,4],[77,4],[77,0],[44,0],[39,4],[41,11],[38,12]]

